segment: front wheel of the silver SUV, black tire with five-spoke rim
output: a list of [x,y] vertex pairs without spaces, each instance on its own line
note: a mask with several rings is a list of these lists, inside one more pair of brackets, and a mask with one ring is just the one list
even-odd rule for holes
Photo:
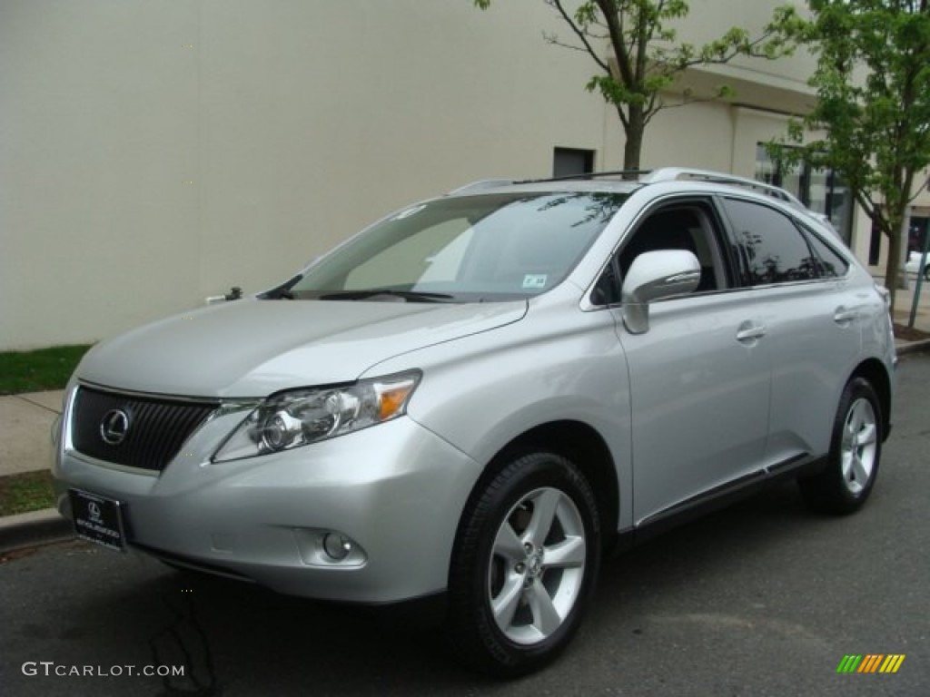
[[449,572],[458,658],[495,677],[550,664],[575,634],[601,556],[588,480],[551,453],[513,459],[472,500]]

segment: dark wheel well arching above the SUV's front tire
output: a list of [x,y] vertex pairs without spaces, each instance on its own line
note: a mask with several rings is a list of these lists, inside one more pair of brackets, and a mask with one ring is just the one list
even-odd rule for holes
[[553,421],[531,428],[500,449],[485,467],[475,486],[482,491],[486,480],[497,474],[505,462],[533,451],[548,451],[571,460],[591,484],[601,519],[604,548],[613,546],[617,532],[619,493],[617,469],[601,434],[579,421]]

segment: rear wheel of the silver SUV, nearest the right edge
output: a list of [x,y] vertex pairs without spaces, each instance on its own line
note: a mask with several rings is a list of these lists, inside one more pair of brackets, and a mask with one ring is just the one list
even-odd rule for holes
[[845,515],[869,498],[882,456],[882,407],[870,382],[846,384],[833,421],[827,467],[798,480],[804,502],[814,510]]

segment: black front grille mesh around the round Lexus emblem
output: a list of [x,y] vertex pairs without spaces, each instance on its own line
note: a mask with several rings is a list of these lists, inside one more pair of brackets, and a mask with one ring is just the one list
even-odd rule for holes
[[[162,471],[219,402],[173,401],[81,387],[74,396],[72,443],[79,453],[126,467]],[[103,440],[101,425],[114,410],[126,414],[126,437]],[[113,438],[111,438],[113,440]]]

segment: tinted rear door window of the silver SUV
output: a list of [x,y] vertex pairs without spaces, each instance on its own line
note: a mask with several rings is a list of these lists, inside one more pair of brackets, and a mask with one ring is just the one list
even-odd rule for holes
[[818,259],[790,217],[766,205],[724,199],[726,213],[745,252],[751,285],[818,278]]

